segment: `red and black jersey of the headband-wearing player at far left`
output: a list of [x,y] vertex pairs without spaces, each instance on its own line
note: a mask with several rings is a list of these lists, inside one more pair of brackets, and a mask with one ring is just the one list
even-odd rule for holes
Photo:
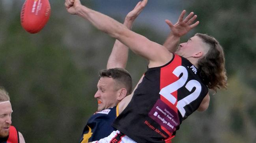
[[9,127],[9,136],[0,138],[0,143],[19,143],[19,132],[14,126]]

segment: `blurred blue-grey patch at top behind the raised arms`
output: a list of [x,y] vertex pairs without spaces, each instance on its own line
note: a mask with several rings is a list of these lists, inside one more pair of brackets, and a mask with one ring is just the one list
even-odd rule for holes
[[[93,2],[95,2],[93,6],[95,10],[124,18],[139,0],[93,0]],[[181,0],[148,0],[148,4],[137,18],[135,26],[138,24],[152,25],[159,32],[168,34],[169,28],[164,20],[168,19],[175,24],[184,6]]]

